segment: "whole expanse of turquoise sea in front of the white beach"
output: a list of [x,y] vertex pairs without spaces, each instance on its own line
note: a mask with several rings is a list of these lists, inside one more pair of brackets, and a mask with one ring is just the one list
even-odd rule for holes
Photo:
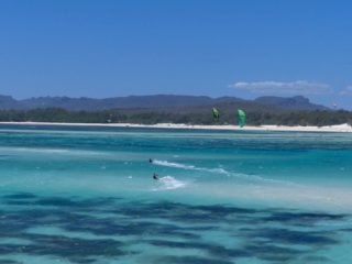
[[2,125],[0,143],[0,263],[352,262],[351,134]]

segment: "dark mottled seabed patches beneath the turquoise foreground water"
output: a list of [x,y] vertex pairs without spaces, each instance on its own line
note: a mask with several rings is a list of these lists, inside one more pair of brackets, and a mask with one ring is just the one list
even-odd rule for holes
[[[319,249],[343,243],[340,233],[350,231],[348,227],[341,229],[341,224],[329,232],[319,231],[320,221],[348,223],[346,215],[284,209],[190,206],[168,201],[124,202],[118,198],[38,197],[28,193],[3,196],[1,201],[6,207],[0,211],[0,239],[13,238],[30,242],[23,245],[0,244],[1,255],[51,255],[79,264],[98,263],[100,258],[119,260],[134,254],[143,255],[144,252],[129,250],[139,243],[185,252],[196,250],[205,255],[163,256],[161,250],[161,255],[155,256],[158,263],[228,264],[239,258],[272,263],[311,260],[315,263],[312,257],[319,257]],[[43,227],[65,232],[63,235],[33,233],[33,229]],[[204,239],[204,232],[207,231],[235,242],[230,246],[222,240],[209,241]],[[65,235],[67,232],[97,238],[73,238]],[[128,242],[122,243],[112,238]],[[10,263],[13,261],[8,258]]]

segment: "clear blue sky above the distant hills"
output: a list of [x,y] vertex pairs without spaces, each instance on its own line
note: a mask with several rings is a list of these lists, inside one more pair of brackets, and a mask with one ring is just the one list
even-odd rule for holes
[[2,0],[0,94],[304,95],[352,109],[352,2]]

